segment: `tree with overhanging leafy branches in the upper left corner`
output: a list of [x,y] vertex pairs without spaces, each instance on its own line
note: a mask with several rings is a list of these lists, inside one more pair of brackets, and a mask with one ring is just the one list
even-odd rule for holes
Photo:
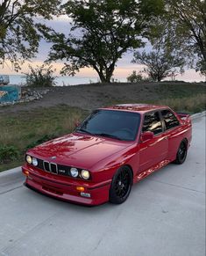
[[0,1],[0,64],[5,60],[20,69],[20,63],[38,51],[42,30],[41,18],[51,19],[58,13],[60,0]]

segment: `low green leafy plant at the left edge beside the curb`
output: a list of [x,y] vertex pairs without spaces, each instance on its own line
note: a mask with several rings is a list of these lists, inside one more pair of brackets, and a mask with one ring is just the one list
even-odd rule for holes
[[0,163],[8,163],[17,160],[19,157],[18,149],[14,146],[0,146]]

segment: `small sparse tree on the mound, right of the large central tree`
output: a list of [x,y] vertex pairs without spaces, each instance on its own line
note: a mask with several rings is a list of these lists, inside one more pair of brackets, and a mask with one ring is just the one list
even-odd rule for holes
[[136,52],[132,62],[146,65],[144,72],[153,80],[160,82],[165,77],[174,77],[174,74],[183,72],[184,59],[181,56],[158,48],[150,53]]

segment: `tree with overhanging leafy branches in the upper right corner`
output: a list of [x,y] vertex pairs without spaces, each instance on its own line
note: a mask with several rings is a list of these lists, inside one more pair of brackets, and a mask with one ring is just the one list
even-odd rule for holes
[[[156,20],[156,44],[179,49],[191,67],[206,73],[206,4],[202,0],[166,0]],[[153,38],[153,35],[154,38]],[[155,41],[155,40],[154,40]],[[197,61],[196,61],[197,60]]]

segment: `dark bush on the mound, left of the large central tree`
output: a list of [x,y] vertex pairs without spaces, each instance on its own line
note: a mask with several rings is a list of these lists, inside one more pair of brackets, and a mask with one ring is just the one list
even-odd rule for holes
[[45,64],[32,68],[29,65],[29,73],[25,73],[25,80],[27,86],[32,87],[48,87],[55,85],[55,78],[53,76],[53,66],[46,66]]

